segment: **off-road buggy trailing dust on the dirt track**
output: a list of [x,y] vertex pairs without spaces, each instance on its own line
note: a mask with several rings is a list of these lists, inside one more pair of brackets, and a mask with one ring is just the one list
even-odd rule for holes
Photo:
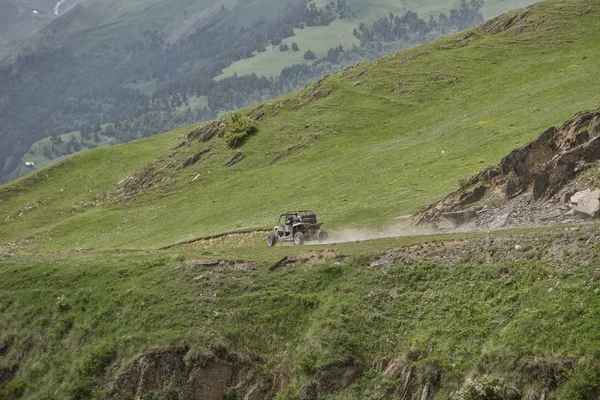
[[279,216],[267,243],[269,246],[275,246],[278,241],[293,242],[300,246],[307,241],[324,242],[329,239],[329,235],[321,230],[322,224],[317,222],[317,215],[311,210],[288,211]]

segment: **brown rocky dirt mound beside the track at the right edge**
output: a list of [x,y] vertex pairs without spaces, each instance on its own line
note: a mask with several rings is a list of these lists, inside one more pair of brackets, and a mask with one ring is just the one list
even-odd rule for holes
[[464,188],[430,205],[417,224],[488,230],[507,226],[573,223],[596,216],[600,192],[600,110],[576,114],[500,165],[473,176]]

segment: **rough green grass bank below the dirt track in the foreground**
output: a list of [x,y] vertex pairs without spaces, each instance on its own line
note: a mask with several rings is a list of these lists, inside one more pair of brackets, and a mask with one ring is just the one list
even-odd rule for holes
[[[234,271],[194,263],[220,258],[218,246],[4,256],[0,342],[13,338],[13,345],[0,356],[0,367],[20,365],[14,382],[22,384],[25,399],[73,398],[74,382],[106,387],[140,353],[185,342],[201,353],[224,346],[242,359],[260,355],[263,361],[248,361],[251,368],[259,374],[291,371],[293,390],[328,365],[412,360],[420,376],[441,374],[438,396],[448,398],[466,376],[484,373],[520,391],[543,387],[535,370],[525,368],[535,360],[542,367],[567,366],[565,375],[555,372],[562,377],[551,390],[557,398],[577,398],[595,384],[585,374],[599,368],[598,245],[586,243],[594,232],[597,227],[566,234],[504,232],[495,240],[506,240],[509,254],[513,243],[527,243],[527,252],[488,263],[485,249],[474,242],[473,253],[456,262],[425,258],[384,269],[368,264],[388,248],[488,239],[431,236],[332,245],[349,257],[275,271],[268,267],[282,256],[302,257],[324,246],[266,252],[262,241],[243,249],[229,242],[221,249],[228,257],[243,253],[257,262]],[[577,241],[579,252],[562,260],[539,258],[563,236]],[[104,357],[104,364],[90,368],[92,357]],[[373,369],[342,394],[386,398],[380,379],[385,377]]]

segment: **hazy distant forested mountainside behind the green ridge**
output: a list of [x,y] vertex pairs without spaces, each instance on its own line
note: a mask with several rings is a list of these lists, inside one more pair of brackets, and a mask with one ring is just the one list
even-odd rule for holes
[[[478,24],[482,7],[531,2],[88,0],[58,16],[46,4],[51,23],[0,68],[0,182],[29,172],[28,155],[50,162],[211,119]],[[244,60],[250,70],[223,74]]]

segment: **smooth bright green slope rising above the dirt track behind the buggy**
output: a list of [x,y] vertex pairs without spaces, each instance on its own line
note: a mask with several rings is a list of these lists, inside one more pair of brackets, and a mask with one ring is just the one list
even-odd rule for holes
[[[255,111],[233,167],[237,150],[185,139],[192,128],[80,154],[4,186],[0,232],[39,248],[162,246],[298,207],[334,228],[385,225],[597,106],[599,13],[545,2],[331,75]],[[121,204],[128,181],[141,183]]]

